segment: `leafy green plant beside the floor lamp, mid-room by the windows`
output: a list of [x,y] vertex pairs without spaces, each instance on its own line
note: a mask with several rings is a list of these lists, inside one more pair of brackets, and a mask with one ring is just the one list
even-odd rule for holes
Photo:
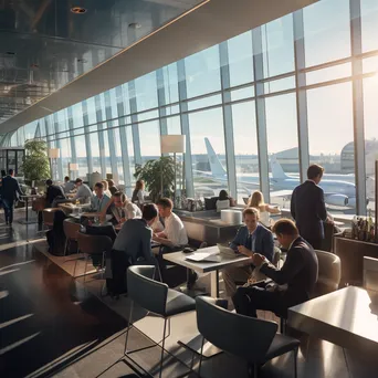
[[170,156],[148,160],[144,166],[136,167],[134,176],[137,180],[145,181],[149,197],[154,202],[161,197],[171,198],[174,196],[175,161]]

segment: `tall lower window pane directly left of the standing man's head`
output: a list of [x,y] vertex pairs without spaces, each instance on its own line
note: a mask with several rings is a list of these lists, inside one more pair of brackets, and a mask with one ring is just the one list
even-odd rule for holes
[[300,183],[295,94],[265,98],[265,113],[271,202],[288,208],[291,192]]

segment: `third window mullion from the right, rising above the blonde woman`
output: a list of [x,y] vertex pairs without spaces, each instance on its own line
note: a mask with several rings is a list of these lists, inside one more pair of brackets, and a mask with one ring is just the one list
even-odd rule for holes
[[[264,84],[262,82],[259,82],[263,80],[264,77],[264,62],[263,62],[261,28],[255,28],[252,30],[252,44],[253,44],[253,71],[254,71],[254,78],[255,78],[254,93],[255,93],[255,96],[263,96]],[[260,188],[266,201],[270,202],[265,98],[256,97],[254,104],[255,104],[255,112],[256,112]]]

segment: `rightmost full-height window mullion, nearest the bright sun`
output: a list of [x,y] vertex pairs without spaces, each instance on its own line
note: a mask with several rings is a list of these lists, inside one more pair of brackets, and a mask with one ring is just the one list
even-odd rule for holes
[[[349,0],[351,56],[363,53],[360,0]],[[366,166],[364,128],[363,60],[351,60],[353,75],[353,125],[355,143],[356,212],[366,216]]]

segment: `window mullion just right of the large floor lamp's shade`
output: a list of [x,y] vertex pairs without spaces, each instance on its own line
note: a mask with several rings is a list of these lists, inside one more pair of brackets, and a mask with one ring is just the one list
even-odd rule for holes
[[186,136],[186,153],[183,154],[185,182],[186,182],[187,197],[195,197],[189,115],[188,113],[183,113],[183,112],[188,112],[188,103],[186,102],[188,94],[187,94],[187,80],[186,80],[187,74],[186,74],[186,69],[185,69],[185,60],[178,61],[176,64],[177,64],[178,90],[179,90],[181,134]]

